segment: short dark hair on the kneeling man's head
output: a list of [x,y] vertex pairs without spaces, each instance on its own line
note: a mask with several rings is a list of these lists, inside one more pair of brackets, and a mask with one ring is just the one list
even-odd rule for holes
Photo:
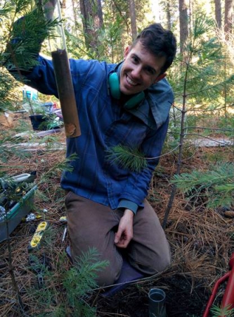
[[141,42],[151,54],[166,57],[161,73],[164,73],[171,66],[176,56],[176,37],[171,31],[165,30],[160,23],[153,23],[138,34],[131,44],[131,48],[136,46],[138,42]]

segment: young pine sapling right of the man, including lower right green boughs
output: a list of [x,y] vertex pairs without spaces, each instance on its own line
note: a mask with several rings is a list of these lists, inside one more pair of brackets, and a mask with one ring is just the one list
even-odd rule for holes
[[[227,62],[223,46],[214,34],[214,20],[207,18],[204,14],[198,14],[195,16],[194,27],[184,46],[183,54],[178,55],[174,68],[169,72],[169,80],[176,96],[175,105],[181,120],[180,125],[176,123],[174,127],[170,126],[170,132],[174,133],[175,140],[178,139],[179,133],[178,144],[180,147],[176,175],[172,180],[173,189],[164,216],[164,227],[175,197],[176,187],[185,191],[189,199],[205,197],[208,201],[207,205],[211,207],[232,204],[233,180],[230,178],[230,175],[233,175],[232,163],[222,162],[219,166],[212,166],[205,173],[194,170],[190,175],[182,174],[180,176],[184,155],[183,144],[186,137],[195,139],[198,135],[207,135],[209,130],[209,126],[204,125],[202,133],[197,133],[196,129],[199,128],[190,127],[188,119],[190,113],[194,111],[197,115],[204,111],[202,113],[204,118],[207,118],[207,113],[208,116],[213,114],[212,118],[214,118],[214,115],[217,116],[217,112],[214,113],[214,110],[219,111],[221,104],[226,105],[227,103],[223,92],[229,91],[230,95],[233,94],[234,77],[230,70],[229,73],[227,72]],[[181,111],[181,115],[179,111]],[[232,174],[228,175],[230,170],[232,170]],[[226,182],[228,182],[228,186],[226,186]]]

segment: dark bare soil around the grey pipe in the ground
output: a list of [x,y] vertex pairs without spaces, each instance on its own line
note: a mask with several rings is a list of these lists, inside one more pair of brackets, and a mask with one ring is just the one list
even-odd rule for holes
[[[192,286],[193,284],[193,286]],[[188,276],[175,273],[150,285],[131,285],[108,299],[99,299],[98,316],[148,317],[148,290],[160,288],[166,294],[167,317],[201,317],[209,300],[209,292]],[[193,288],[193,292],[191,292]],[[118,315],[115,315],[118,312]]]

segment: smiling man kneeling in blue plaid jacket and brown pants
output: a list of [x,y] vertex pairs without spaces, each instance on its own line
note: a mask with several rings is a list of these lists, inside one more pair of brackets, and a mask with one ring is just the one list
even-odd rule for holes
[[[72,257],[95,247],[109,266],[98,285],[112,285],[122,268],[122,251],[145,275],[163,271],[170,249],[155,211],[145,197],[169,123],[173,92],[164,78],[176,54],[174,35],[160,24],[146,27],[124,51],[124,61],[70,60],[82,135],[67,139],[72,172],[64,171],[67,227]],[[39,56],[27,85],[58,97],[52,61]],[[69,105],[67,105],[69,106]],[[131,170],[110,160],[121,146],[137,149],[147,166]]]

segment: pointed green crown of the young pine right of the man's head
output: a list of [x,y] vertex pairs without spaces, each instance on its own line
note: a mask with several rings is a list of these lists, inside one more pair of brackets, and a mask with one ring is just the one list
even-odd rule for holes
[[[214,101],[221,97],[225,85],[233,85],[234,76],[224,73],[226,55],[223,46],[214,35],[214,20],[197,15],[185,46],[183,56],[178,56],[175,70],[180,68],[170,82],[178,97],[186,93],[189,109],[195,104]],[[183,66],[181,68],[181,66]],[[186,82],[185,82],[186,80]],[[186,87],[186,92],[183,90]],[[219,103],[216,107],[220,106]]]

